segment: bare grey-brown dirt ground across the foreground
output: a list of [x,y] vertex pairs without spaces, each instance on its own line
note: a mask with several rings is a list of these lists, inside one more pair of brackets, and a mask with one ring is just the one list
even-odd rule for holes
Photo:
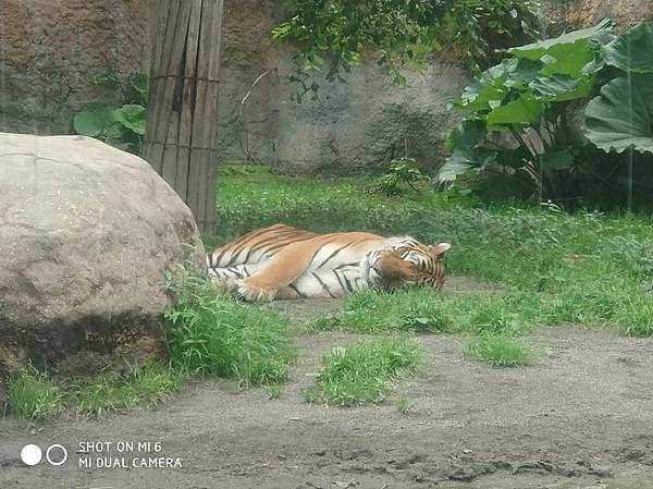
[[[466,293],[465,281],[458,285]],[[340,306],[282,307],[307,317]],[[202,381],[158,408],[101,420],[69,415],[29,427],[7,417],[0,488],[653,488],[653,340],[547,328],[530,338],[539,352],[534,365],[501,369],[464,359],[465,338],[424,335],[419,375],[383,404],[306,404],[303,391],[320,357],[357,338],[299,337],[298,364],[279,400],[262,388]],[[408,414],[395,407],[397,396],[415,403]],[[118,442],[130,441],[133,449],[119,450]],[[79,442],[112,445],[85,454]],[[19,456],[26,443],[62,444],[67,461],[28,467]],[[79,467],[87,455],[94,466]],[[97,468],[98,457],[124,459],[126,468]],[[171,457],[171,464],[178,457],[182,466],[133,466],[148,457]],[[61,459],[60,449],[51,459]]]

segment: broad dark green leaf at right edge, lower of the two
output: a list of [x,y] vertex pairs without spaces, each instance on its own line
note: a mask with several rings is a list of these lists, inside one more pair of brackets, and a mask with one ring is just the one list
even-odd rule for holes
[[653,75],[619,76],[586,109],[583,131],[604,151],[653,152]]

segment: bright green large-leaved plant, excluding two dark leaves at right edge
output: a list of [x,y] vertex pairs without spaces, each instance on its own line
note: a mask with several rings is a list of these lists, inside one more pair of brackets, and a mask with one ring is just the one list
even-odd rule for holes
[[580,163],[582,144],[569,136],[570,102],[588,98],[596,78],[600,47],[612,23],[507,50],[510,58],[469,84],[453,103],[469,113],[448,140],[451,157],[439,172],[451,184],[490,166],[523,172],[533,190],[565,195],[565,182]]

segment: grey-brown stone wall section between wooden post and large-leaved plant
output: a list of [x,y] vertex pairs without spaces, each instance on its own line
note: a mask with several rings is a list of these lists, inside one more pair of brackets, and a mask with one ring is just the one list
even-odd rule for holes
[[[407,72],[398,87],[369,62],[346,83],[320,81],[319,100],[291,100],[292,46],[270,32],[286,16],[275,0],[226,0],[220,91],[220,152],[224,159],[270,163],[286,173],[353,173],[384,167],[408,148],[423,167],[444,160],[443,139],[459,115],[446,109],[467,83],[460,63],[432,60]],[[238,120],[241,100],[261,74]],[[244,150],[245,149],[245,150]]]

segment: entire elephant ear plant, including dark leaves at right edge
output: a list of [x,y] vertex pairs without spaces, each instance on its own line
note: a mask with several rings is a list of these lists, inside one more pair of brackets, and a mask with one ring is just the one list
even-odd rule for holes
[[[510,48],[502,63],[473,80],[452,105],[467,117],[448,138],[439,184],[494,168],[528,176],[540,200],[544,194],[564,198],[591,164],[587,155],[594,145],[651,151],[653,27],[643,23],[619,37],[611,29],[605,20]],[[572,137],[572,109],[590,99],[587,139]]]

